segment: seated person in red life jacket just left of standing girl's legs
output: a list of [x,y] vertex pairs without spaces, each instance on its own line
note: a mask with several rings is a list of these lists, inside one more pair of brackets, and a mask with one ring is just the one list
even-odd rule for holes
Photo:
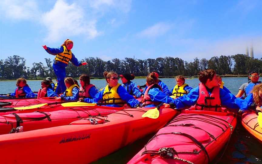
[[43,97],[58,97],[58,95],[52,89],[50,80],[43,80],[41,82],[41,87],[42,89],[39,89],[37,93],[37,99],[40,99]]

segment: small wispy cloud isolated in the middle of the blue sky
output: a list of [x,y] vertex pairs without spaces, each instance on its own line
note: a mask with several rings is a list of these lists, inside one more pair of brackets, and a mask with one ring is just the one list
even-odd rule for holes
[[160,22],[136,34],[139,37],[155,38],[166,34],[171,28],[170,24]]

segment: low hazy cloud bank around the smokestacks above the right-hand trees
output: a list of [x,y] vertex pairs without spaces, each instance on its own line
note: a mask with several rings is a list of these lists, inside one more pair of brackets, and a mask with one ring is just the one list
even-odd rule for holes
[[184,51],[179,51],[171,56],[180,57],[186,61],[193,60],[195,57],[210,59],[213,56],[245,54],[247,46],[250,51],[250,47],[253,45],[254,57],[262,57],[262,38],[258,36],[252,38],[247,36],[228,37],[217,41],[177,39],[173,42],[174,48],[185,47],[185,45],[187,48],[184,48]]

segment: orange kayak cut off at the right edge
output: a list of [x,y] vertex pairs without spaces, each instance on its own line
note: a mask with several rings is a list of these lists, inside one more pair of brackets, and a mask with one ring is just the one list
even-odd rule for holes
[[245,112],[241,118],[243,127],[262,143],[262,128],[258,125],[257,114]]

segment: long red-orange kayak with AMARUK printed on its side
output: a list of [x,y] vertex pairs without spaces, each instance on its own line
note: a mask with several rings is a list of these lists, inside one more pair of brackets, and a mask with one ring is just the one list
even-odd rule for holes
[[[109,155],[116,150],[156,132],[171,120],[176,110],[160,109],[157,119],[142,117],[150,108],[130,108],[103,117],[89,117],[70,125],[3,134],[0,137],[1,163],[56,163],[86,164]],[[152,108],[151,108],[152,109]],[[19,155],[10,153],[22,148]]]

